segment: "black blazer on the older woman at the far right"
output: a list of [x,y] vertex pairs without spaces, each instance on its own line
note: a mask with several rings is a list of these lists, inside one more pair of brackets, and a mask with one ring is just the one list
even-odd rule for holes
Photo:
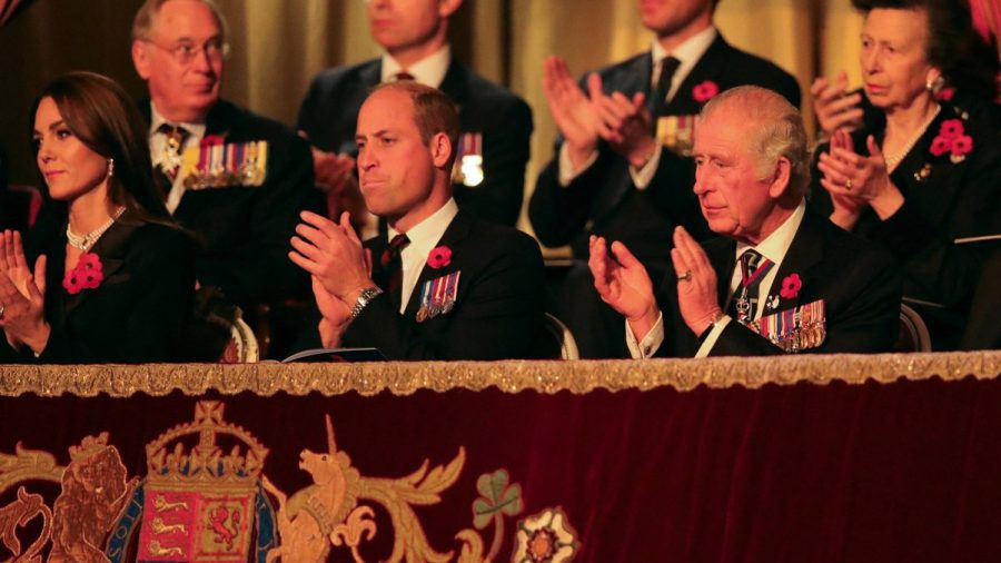
[[[942,105],[939,116],[890,175],[904,205],[886,220],[866,208],[852,231],[889,249],[904,275],[904,299],[929,325],[935,349],[958,345],[984,257],[1001,248],[1001,134],[997,121],[961,119],[965,111]],[[967,113],[969,116],[969,113]],[[879,116],[881,117],[881,116]],[[942,122],[960,119],[972,150],[960,162],[931,154]],[[885,119],[852,135],[868,154],[865,138],[882,142]],[[829,145],[817,147],[816,157]],[[811,205],[830,216],[833,205],[813,169]]]

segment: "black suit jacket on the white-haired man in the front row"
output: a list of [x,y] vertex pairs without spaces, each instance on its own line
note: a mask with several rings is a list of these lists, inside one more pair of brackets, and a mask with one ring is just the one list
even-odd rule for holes
[[[721,237],[704,247],[716,271],[717,296],[723,306],[730,297],[736,241]],[[794,299],[782,298],[782,280],[791,274],[799,274],[803,285]],[[804,352],[890,352],[899,330],[900,293],[900,273],[885,251],[872,248],[827,219],[807,211],[769,293],[769,297],[779,296],[779,306],[764,315],[824,299],[826,338],[820,346]],[[656,355],[694,356],[700,343],[678,310],[677,275],[673,268],[657,302],[664,314],[665,334]],[[710,352],[711,356],[773,354],[783,354],[783,350],[736,319],[726,325]]]

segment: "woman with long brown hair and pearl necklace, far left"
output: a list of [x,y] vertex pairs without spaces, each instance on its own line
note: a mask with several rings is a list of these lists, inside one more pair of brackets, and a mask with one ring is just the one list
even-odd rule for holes
[[71,72],[46,87],[33,113],[47,210],[27,255],[19,233],[0,240],[0,356],[176,358],[191,310],[194,248],[156,192],[135,103],[106,77]]

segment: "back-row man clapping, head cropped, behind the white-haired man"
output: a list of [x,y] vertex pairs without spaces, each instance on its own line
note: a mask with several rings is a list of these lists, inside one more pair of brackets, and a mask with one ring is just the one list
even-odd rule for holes
[[[589,73],[578,87],[566,63],[545,65],[544,91],[561,138],[539,174],[528,216],[546,246],[571,245],[575,267],[558,316],[579,334],[582,357],[620,353],[615,314],[591,290],[589,235],[621,240],[655,273],[675,226],[710,235],[692,195],[695,115],[716,92],[757,85],[800,106],[795,79],[727,43],[713,26],[717,0],[638,0],[651,50]],[[611,318],[609,318],[611,317]]]

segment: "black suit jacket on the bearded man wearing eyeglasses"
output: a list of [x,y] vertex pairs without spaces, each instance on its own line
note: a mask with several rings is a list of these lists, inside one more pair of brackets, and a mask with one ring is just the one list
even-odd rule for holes
[[[140,103],[147,119],[148,101]],[[278,121],[219,100],[206,118],[206,136],[225,142],[268,142],[265,181],[187,190],[175,219],[196,235],[196,274],[227,299],[248,307],[305,295],[307,277],[288,260],[289,239],[314,192],[309,144]],[[170,187],[162,187],[165,196]]]

